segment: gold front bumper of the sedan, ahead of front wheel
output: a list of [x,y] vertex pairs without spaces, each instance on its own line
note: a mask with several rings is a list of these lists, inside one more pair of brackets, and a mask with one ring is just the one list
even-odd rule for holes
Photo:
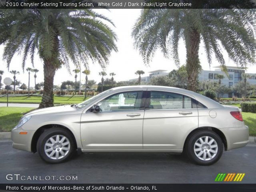
[[[27,134],[20,134],[20,132],[27,132]],[[31,141],[35,132],[33,130],[23,130],[22,126],[12,129],[12,147],[31,152]]]

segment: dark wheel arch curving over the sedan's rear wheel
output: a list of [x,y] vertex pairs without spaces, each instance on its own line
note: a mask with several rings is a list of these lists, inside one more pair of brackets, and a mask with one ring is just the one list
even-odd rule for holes
[[184,142],[184,145],[183,145],[183,150],[185,150],[186,142],[188,142],[190,136],[192,136],[195,132],[202,131],[202,130],[211,130],[211,131],[215,132],[216,134],[218,134],[218,136],[222,140],[222,143],[224,144],[225,151],[228,149],[228,143],[227,143],[226,136],[224,135],[224,133],[221,130],[219,130],[218,128],[215,128],[215,127],[199,127],[199,128],[192,130],[188,134],[188,136],[186,137],[186,140]]

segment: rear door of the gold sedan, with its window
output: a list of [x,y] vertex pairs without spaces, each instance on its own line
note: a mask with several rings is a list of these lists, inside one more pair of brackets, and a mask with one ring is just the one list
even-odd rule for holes
[[144,123],[144,149],[182,149],[186,135],[198,128],[194,99],[168,91],[148,91]]

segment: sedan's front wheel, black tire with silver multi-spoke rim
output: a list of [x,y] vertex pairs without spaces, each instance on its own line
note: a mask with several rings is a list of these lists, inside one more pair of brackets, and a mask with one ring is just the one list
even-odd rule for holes
[[36,148],[42,160],[56,164],[65,162],[74,154],[75,143],[70,132],[55,127],[45,130],[40,135]]

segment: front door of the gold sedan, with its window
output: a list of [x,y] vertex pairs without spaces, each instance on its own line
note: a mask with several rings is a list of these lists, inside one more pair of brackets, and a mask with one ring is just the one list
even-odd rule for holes
[[[81,116],[85,150],[142,149],[143,91],[118,92],[97,102],[100,112]],[[145,100],[145,98],[144,98]]]

